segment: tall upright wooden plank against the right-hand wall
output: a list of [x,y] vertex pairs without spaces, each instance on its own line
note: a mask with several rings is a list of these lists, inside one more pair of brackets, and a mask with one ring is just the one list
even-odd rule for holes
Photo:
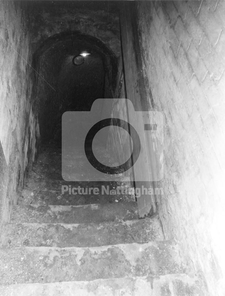
[[[140,45],[138,41],[137,22],[135,20],[135,3],[129,3],[130,1],[123,1],[120,4],[120,25],[122,36],[122,50],[124,59],[124,73],[125,73],[125,85],[127,91],[127,98],[131,100],[134,105],[135,111],[149,111],[150,105],[147,101],[147,94],[144,85],[144,77],[142,72],[142,60]],[[138,123],[138,124],[143,124]],[[153,151],[150,147],[150,141],[143,133],[140,136],[141,143],[147,147],[147,151]],[[150,159],[152,158],[152,159]],[[147,153],[143,157],[143,161],[139,167],[134,166],[134,175],[139,176],[139,180],[152,179],[154,175],[154,168],[150,166],[153,164],[153,155]],[[150,181],[135,181],[135,187],[145,188],[152,187],[153,183]],[[149,213],[155,213],[155,198],[153,195],[142,194],[137,198],[138,214],[140,217],[149,215]]]

